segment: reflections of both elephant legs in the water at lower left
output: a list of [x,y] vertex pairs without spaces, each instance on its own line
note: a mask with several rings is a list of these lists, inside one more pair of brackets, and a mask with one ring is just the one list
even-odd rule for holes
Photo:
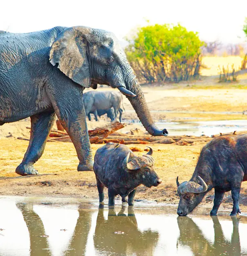
[[[17,203],[16,206],[21,211],[27,224],[30,237],[30,255],[52,255],[52,251],[48,249],[49,243],[47,239],[49,234],[45,233],[43,222],[39,215],[34,212],[33,205]],[[63,252],[63,255],[85,255],[90,227],[91,213],[89,211],[79,209],[79,217],[77,219],[72,238],[70,239],[70,245],[67,247],[67,250]],[[40,250],[42,250],[42,254],[40,254]]]

